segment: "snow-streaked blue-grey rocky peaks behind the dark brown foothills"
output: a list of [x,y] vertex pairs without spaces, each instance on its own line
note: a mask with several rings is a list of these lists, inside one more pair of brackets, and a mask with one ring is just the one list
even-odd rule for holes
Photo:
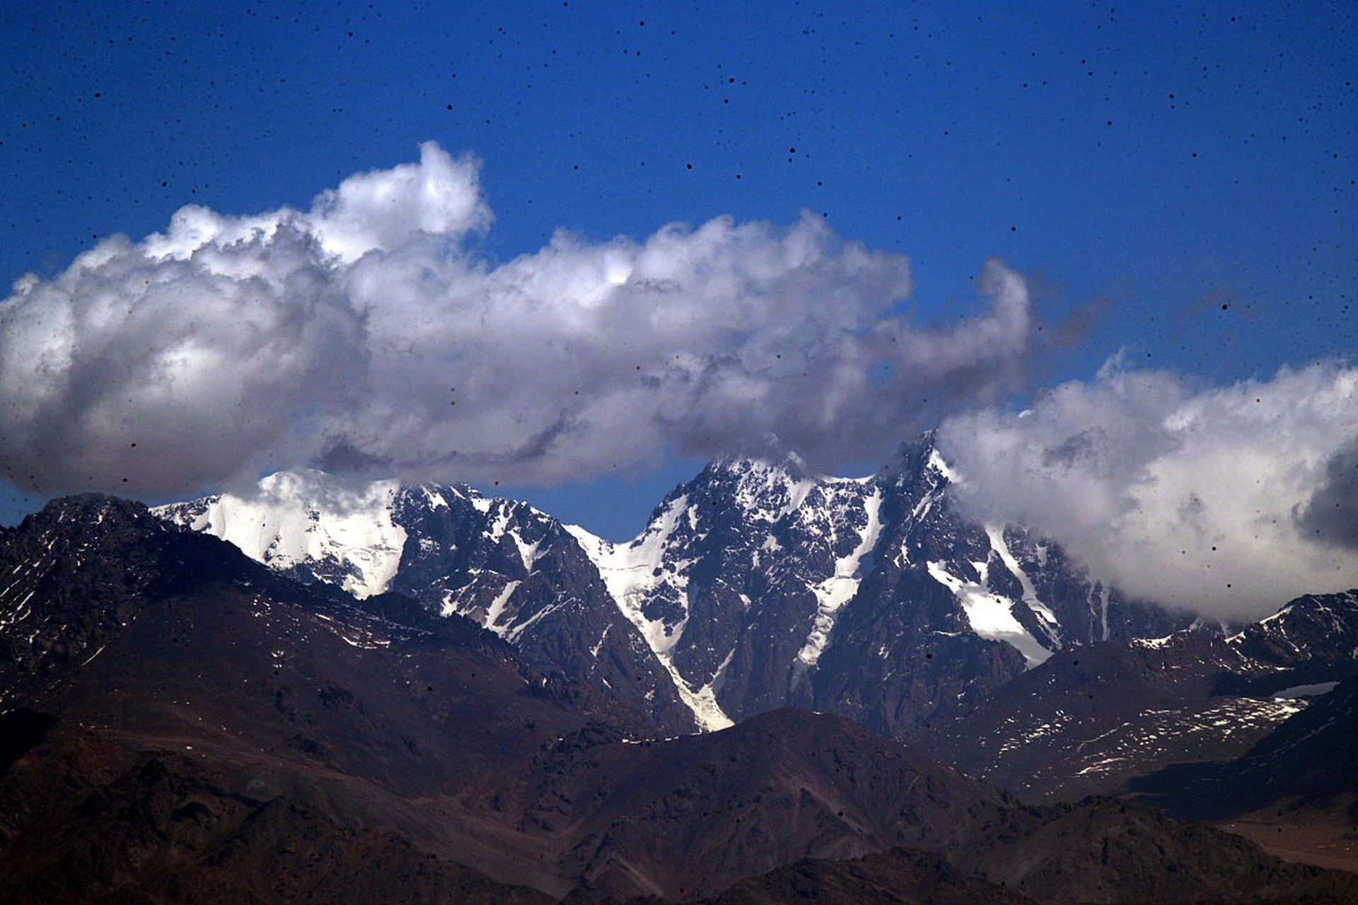
[[720,460],[622,544],[463,486],[318,472],[159,513],[293,577],[466,615],[669,731],[805,706],[899,734],[1055,650],[1187,623],[1020,528],[966,522],[948,483],[929,436],[862,479]]

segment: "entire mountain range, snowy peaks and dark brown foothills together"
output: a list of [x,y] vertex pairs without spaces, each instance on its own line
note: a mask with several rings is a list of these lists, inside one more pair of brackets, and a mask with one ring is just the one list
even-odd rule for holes
[[318,472],[54,501],[0,532],[10,898],[1358,901],[1137,801],[1358,826],[1358,594],[1205,627],[948,487],[928,436],[722,460],[617,544]]

